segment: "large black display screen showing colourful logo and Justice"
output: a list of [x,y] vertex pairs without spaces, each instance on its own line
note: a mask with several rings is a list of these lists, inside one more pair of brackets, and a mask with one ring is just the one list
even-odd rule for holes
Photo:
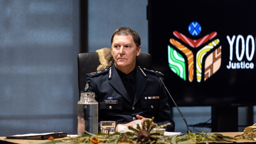
[[152,69],[179,106],[255,105],[256,1],[148,1]]

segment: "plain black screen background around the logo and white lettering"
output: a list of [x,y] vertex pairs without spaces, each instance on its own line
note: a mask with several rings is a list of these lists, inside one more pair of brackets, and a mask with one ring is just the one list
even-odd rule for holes
[[[220,105],[254,105],[256,80],[256,1],[249,0],[194,0],[194,1],[148,1],[149,53],[152,56],[152,69],[164,73],[165,85],[179,106],[220,106]],[[201,33],[198,36],[189,34],[191,22],[198,22]],[[169,39],[175,38],[173,31],[179,31],[191,39],[200,39],[213,31],[222,46],[221,66],[219,70],[206,81],[182,80],[168,66],[167,46]],[[236,58],[236,39],[238,35],[246,38],[252,35],[254,40],[247,46],[250,56],[246,53],[242,62],[253,63],[252,69],[228,69],[230,61],[230,44],[227,36],[236,37],[233,46],[233,60]],[[215,38],[214,38],[215,39]],[[182,42],[180,39],[178,41]],[[241,54],[242,40],[238,41],[238,51]],[[246,44],[244,44],[246,46]],[[189,47],[189,45],[185,45]],[[202,48],[202,47],[200,47]],[[193,49],[195,52],[198,49]],[[195,72],[194,72],[195,75]],[[171,105],[173,105],[171,103]]]

